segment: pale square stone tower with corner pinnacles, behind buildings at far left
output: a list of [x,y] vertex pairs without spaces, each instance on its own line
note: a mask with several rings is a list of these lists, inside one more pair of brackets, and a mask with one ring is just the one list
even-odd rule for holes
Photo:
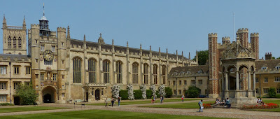
[[3,54],[27,55],[27,29],[25,17],[22,27],[7,26],[6,18],[3,17]]

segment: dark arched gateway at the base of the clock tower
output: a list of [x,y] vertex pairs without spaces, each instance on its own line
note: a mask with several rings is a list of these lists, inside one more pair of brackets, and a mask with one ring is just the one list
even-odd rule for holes
[[56,97],[57,94],[54,87],[47,86],[42,90],[43,103],[55,103]]

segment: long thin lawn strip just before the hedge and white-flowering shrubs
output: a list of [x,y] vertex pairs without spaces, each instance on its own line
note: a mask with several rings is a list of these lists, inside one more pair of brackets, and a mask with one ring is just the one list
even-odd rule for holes
[[[200,99],[184,99],[185,101],[190,101],[190,100],[200,100]],[[136,100],[136,101],[120,101],[120,105],[129,105],[129,104],[150,104],[152,99],[150,100]],[[181,102],[181,99],[164,99],[163,102]],[[108,102],[111,104],[111,102]],[[160,103],[160,99],[155,99],[155,103]],[[115,104],[118,104],[118,102],[115,102]],[[104,106],[104,102],[102,103],[97,103],[97,104],[87,104],[87,105],[94,105],[94,106]]]

